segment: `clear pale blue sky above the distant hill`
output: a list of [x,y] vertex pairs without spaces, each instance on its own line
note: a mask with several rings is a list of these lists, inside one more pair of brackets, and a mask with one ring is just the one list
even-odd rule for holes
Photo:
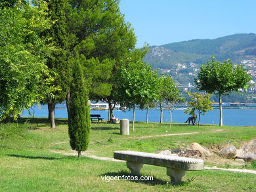
[[256,33],[256,0],[121,0],[119,6],[137,47]]

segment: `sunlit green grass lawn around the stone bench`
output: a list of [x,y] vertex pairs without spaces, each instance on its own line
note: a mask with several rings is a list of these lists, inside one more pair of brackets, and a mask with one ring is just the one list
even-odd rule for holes
[[[221,130],[220,130],[221,129]],[[219,130],[219,131],[218,131]],[[198,132],[180,136],[156,136]],[[88,154],[113,157],[116,150],[158,153],[165,149],[186,148],[193,142],[219,149],[229,140],[239,147],[256,138],[256,127],[187,126],[137,123],[129,136],[119,134],[119,125],[93,123]],[[53,153],[59,151],[60,153]],[[66,119],[56,119],[49,129],[47,119],[26,119],[0,124],[0,191],[256,191],[256,174],[202,170],[186,172],[183,182],[169,185],[166,168],[144,165],[142,176],[153,181],[110,181],[110,176],[131,176],[123,162],[73,157]],[[214,160],[214,161],[213,161]],[[255,169],[255,163],[236,163],[222,158],[205,159],[206,166]]]

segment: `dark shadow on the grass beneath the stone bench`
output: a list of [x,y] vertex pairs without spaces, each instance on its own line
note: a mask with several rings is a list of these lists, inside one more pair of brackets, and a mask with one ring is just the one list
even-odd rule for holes
[[[149,180],[150,176],[141,175],[141,176],[143,176],[144,179],[148,178],[148,180],[140,180],[140,176],[130,174],[129,172],[123,171],[123,170],[120,171],[120,172],[106,172],[105,174],[101,174],[100,176],[102,177],[102,180],[105,180],[106,182],[114,180],[114,178],[117,176],[119,178],[119,180],[129,180],[130,182],[144,183],[146,185],[152,185],[152,186],[154,186],[154,185],[169,185],[169,186],[173,186],[173,185],[169,184],[169,182],[160,180],[160,179],[156,178],[155,176],[153,176],[153,180]],[[135,179],[135,177],[137,177],[137,180]],[[134,179],[132,179],[132,178],[134,178]],[[182,186],[186,183],[187,182],[181,182],[177,185]]]

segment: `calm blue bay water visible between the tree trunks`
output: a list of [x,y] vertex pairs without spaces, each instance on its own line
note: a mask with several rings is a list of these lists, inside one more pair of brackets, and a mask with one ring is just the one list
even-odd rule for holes
[[[33,106],[32,113],[34,117],[48,117],[47,106]],[[107,110],[91,110],[91,114],[100,114],[104,119],[108,119]],[[133,119],[133,111],[114,111],[114,116],[119,119]],[[22,113],[22,117],[30,117],[28,111]],[[58,106],[55,110],[56,118],[68,118],[66,107]],[[173,111],[173,121],[175,123],[184,123],[188,119],[183,110]],[[135,121],[146,121],[146,110],[135,111]],[[148,121],[160,122],[160,110],[151,109],[149,111]],[[169,122],[169,111],[163,111],[163,122]],[[219,109],[208,111],[205,115],[201,115],[200,123],[219,125]],[[223,109],[223,125],[231,126],[256,126],[256,109]]]

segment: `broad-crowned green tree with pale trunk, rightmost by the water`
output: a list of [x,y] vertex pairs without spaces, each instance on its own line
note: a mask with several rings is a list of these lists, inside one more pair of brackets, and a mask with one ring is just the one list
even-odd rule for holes
[[229,94],[232,91],[238,91],[239,88],[247,88],[247,83],[251,75],[247,73],[244,66],[233,65],[231,60],[218,62],[212,56],[211,61],[202,65],[198,71],[198,79],[194,79],[199,90],[205,90],[210,94],[219,95],[220,123],[223,125],[222,118],[222,100],[221,96]]

